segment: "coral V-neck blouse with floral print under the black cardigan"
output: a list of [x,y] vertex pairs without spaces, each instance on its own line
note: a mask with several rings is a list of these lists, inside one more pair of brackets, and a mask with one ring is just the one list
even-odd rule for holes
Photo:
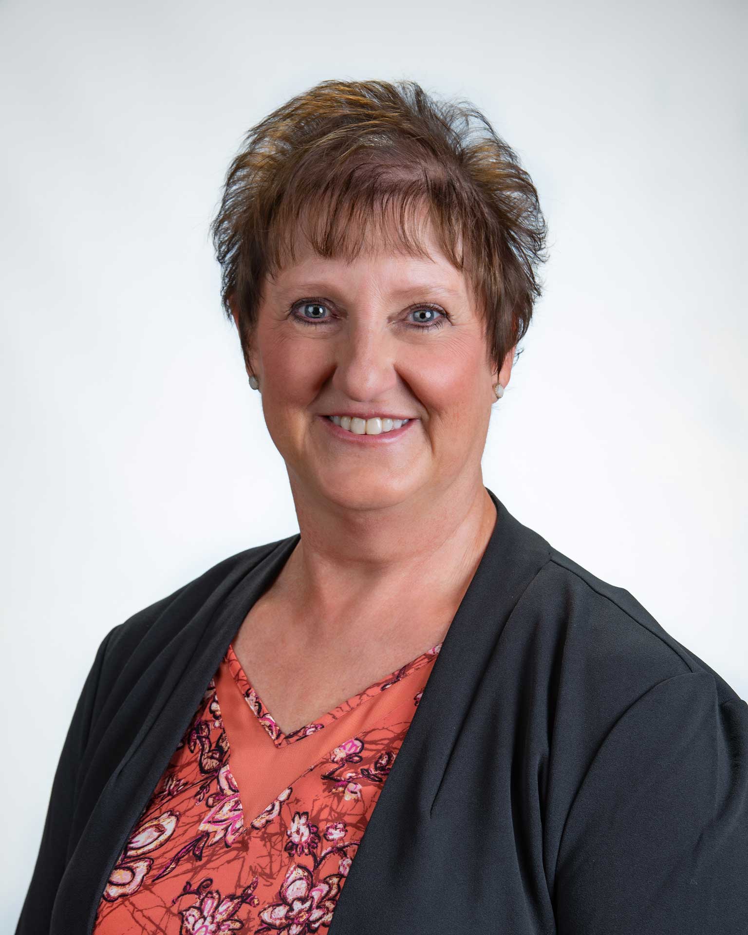
[[329,926],[440,648],[283,734],[229,646],[111,872],[94,935]]

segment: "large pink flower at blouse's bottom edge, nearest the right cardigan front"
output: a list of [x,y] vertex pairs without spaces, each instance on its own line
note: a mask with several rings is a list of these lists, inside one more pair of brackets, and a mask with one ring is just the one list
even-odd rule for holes
[[314,883],[311,871],[292,864],[281,884],[282,902],[267,906],[260,913],[266,927],[258,932],[275,928],[283,935],[307,935],[321,926],[329,926],[340,893],[340,875],[332,873]]

